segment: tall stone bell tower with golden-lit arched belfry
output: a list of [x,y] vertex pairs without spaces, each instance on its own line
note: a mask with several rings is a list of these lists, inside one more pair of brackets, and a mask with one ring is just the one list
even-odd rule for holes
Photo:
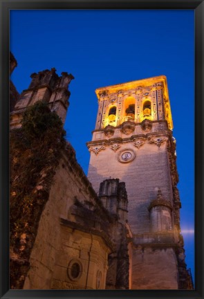
[[192,289],[180,235],[176,141],[164,75],[96,89],[88,177],[124,181],[129,289]]

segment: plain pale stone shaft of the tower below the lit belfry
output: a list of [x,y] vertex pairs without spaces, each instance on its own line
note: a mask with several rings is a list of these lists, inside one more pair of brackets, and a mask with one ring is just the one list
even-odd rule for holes
[[[117,140],[113,136],[112,142],[104,145],[89,145],[93,150],[91,150],[88,178],[96,192],[99,191],[100,182],[109,179],[110,176],[112,179],[118,178],[124,181],[129,199],[128,219],[131,230],[133,233],[147,233],[150,231],[148,206],[156,198],[158,188],[167,199],[173,200],[171,177],[167,167],[169,163],[167,141],[162,142],[167,139],[167,135],[160,134],[159,147],[151,143],[151,134],[149,136],[141,134],[140,138],[135,140],[128,140],[127,136],[125,137],[126,142],[122,142],[119,138]],[[104,149],[100,152],[94,151],[94,147],[100,149],[100,146]],[[122,154],[125,152],[131,152],[132,161],[127,163],[122,161]]]

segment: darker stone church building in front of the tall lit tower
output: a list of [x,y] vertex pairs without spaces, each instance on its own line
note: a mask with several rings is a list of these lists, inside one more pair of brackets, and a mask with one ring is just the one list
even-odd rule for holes
[[[11,61],[11,71],[15,63]],[[70,96],[67,88],[73,76],[62,73],[59,77],[55,69],[51,69],[34,73],[31,78],[29,88],[14,103],[15,109],[10,114],[11,130],[21,127],[21,114],[38,100],[48,102],[50,110],[56,111],[64,122]],[[46,142],[45,138],[45,149]],[[77,163],[73,147],[66,143],[66,149],[61,149],[57,152],[59,155],[55,154],[55,164],[44,167],[39,173],[36,171],[37,183],[35,185],[33,181],[32,191],[27,194],[28,199],[34,198],[30,201],[30,215],[37,217],[27,215],[28,231],[19,235],[20,241],[17,241],[15,250],[12,246],[10,248],[11,288],[128,289],[125,185],[118,179],[100,182],[102,190],[105,190],[100,199]],[[49,148],[48,152],[52,153],[53,149]],[[12,166],[15,165],[13,176],[17,170],[24,172],[25,164],[19,161],[17,164],[15,157],[11,158],[14,161]],[[42,159],[40,153],[37,158]],[[29,173],[28,169],[26,171]],[[110,188],[106,190],[107,183],[112,185],[113,192]],[[19,192],[19,186],[17,190]],[[12,193],[15,197],[16,192]],[[24,203],[24,197],[20,200],[21,217],[24,218],[24,210],[28,210],[24,204],[28,201]],[[32,234],[32,242],[28,232]],[[21,258],[22,248],[26,259]]]

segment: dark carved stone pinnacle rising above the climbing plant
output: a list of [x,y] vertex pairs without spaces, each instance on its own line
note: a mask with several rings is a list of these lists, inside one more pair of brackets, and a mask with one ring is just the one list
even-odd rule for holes
[[[13,66],[12,66],[13,68]],[[30,77],[32,82],[28,89],[22,91],[21,95],[17,94],[11,84],[11,102],[12,114],[10,114],[10,127],[21,127],[21,114],[26,107],[32,106],[39,100],[48,102],[51,111],[55,111],[58,116],[65,122],[66,111],[68,108],[68,84],[74,79],[73,75],[66,72],[62,76],[55,73],[55,69],[33,73]]]

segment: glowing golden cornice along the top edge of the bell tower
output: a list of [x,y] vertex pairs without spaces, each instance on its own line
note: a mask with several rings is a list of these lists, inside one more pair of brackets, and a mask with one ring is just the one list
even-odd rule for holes
[[156,77],[150,77],[150,78],[145,78],[145,79],[140,79],[140,80],[134,80],[134,81],[129,81],[129,82],[124,82],[120,84],[114,84],[114,85],[109,85],[106,87],[99,87],[98,89],[95,89],[96,95],[100,96],[100,93],[104,91],[109,91],[110,93],[115,93],[117,91],[120,91],[121,89],[131,89],[135,87],[146,87],[149,84],[154,84],[154,82],[158,81],[163,81],[167,84],[167,77],[165,75],[159,75]]

